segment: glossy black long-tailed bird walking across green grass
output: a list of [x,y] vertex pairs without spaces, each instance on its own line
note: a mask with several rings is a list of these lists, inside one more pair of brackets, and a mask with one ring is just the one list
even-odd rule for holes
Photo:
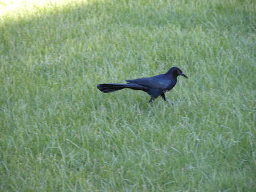
[[[107,83],[99,84],[97,88],[103,93],[110,93],[113,91],[122,90],[124,88],[129,88],[133,90],[141,90],[147,92],[151,99],[149,103],[152,103],[159,95],[166,100],[164,93],[170,91],[177,83],[177,77],[182,75],[187,77],[178,67],[172,67],[165,74],[156,75],[153,77],[138,78],[133,80],[126,80],[126,84],[119,83]],[[173,104],[173,102],[171,102]]]

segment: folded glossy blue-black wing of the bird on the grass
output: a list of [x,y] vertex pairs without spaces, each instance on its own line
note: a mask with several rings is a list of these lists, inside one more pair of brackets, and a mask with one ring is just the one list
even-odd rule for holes
[[166,79],[162,75],[126,80],[126,82],[136,83],[148,88],[159,89],[159,90],[166,90],[171,83],[170,79]]

